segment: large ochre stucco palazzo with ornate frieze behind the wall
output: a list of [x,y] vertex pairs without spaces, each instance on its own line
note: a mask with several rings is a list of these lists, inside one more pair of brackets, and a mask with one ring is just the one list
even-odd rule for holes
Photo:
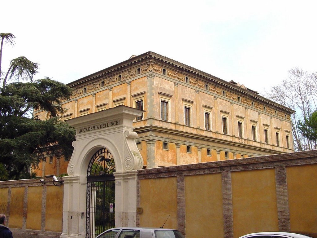
[[[145,168],[294,151],[293,110],[151,51],[68,85],[64,120],[119,105],[145,111],[133,122]],[[67,174],[67,165],[48,156],[36,172]]]

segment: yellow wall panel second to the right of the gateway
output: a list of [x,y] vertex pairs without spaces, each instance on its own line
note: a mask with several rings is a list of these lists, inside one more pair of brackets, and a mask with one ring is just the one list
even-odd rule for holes
[[223,237],[221,174],[185,176],[186,238]]

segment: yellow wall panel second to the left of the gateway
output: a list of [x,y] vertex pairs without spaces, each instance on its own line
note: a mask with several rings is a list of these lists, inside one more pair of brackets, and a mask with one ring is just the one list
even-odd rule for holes
[[28,187],[27,229],[41,230],[42,190],[42,186]]

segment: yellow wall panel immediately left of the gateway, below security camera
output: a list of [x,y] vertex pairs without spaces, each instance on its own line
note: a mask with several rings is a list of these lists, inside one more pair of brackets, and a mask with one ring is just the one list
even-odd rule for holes
[[47,186],[45,231],[62,231],[64,186]]

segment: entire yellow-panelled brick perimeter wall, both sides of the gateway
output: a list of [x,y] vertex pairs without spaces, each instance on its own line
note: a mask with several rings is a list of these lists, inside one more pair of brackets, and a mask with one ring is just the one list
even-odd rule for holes
[[[51,180],[0,182],[0,210],[14,237],[60,237],[63,186]],[[186,238],[317,232],[316,188],[316,150],[143,169],[136,222],[161,227],[166,221],[165,228],[178,228]]]

